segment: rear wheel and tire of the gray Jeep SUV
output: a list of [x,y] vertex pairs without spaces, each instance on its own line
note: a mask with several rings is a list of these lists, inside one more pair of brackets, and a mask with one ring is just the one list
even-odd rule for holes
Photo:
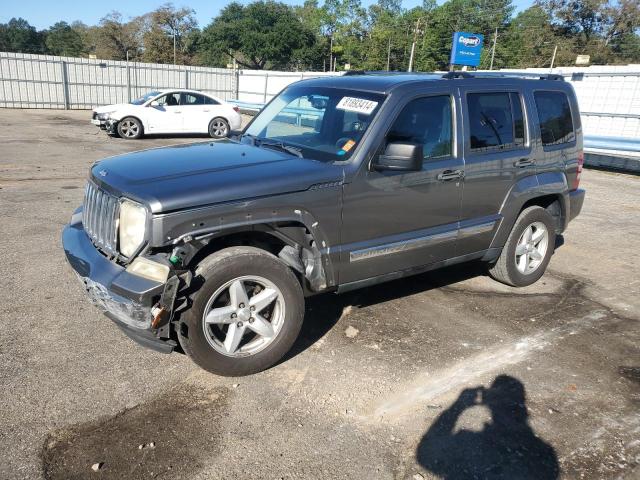
[[551,260],[556,233],[553,217],[539,206],[525,208],[516,220],[489,275],[512,287],[526,287],[540,279]]

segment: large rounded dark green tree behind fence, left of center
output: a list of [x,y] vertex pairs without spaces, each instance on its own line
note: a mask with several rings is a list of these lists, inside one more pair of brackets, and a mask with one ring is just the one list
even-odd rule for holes
[[202,35],[209,59],[224,54],[256,70],[291,66],[293,52],[313,41],[313,32],[304,28],[294,10],[273,1],[230,3]]

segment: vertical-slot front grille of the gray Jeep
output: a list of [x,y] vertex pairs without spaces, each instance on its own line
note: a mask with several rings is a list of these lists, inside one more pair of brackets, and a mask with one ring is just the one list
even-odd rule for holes
[[87,182],[82,226],[93,244],[110,256],[117,253],[118,210],[117,197]]

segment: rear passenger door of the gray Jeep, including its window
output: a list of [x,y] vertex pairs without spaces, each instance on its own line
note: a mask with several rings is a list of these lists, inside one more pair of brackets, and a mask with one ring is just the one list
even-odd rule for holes
[[489,248],[502,204],[521,178],[535,180],[537,159],[523,92],[506,86],[462,89],[465,178],[458,255]]

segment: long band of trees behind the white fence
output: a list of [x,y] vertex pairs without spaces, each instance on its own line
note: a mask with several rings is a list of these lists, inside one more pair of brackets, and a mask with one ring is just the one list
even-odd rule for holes
[[[302,1],[302,0],[300,0]],[[638,0],[535,0],[514,16],[512,0],[272,0],[229,3],[203,30],[190,8],[171,3],[132,19],[112,12],[96,26],[58,22],[38,32],[24,19],[0,24],[0,50],[251,69],[406,70],[448,68],[455,31],[482,33],[480,68],[640,62]],[[175,57],[174,57],[175,40]]]

